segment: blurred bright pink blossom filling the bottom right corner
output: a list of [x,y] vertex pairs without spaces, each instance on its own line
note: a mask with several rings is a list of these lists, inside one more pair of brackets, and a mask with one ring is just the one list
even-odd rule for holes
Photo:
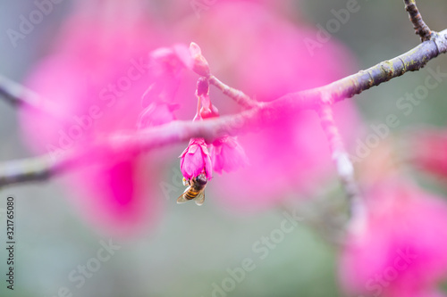
[[443,296],[447,204],[399,180],[375,185],[367,211],[351,222],[340,260],[344,289],[366,296]]

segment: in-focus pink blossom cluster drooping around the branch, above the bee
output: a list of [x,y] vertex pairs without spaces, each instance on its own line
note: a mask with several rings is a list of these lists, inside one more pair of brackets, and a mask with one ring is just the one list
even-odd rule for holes
[[[174,111],[180,108],[173,103],[179,86],[179,73],[183,69],[192,70],[198,78],[196,96],[198,107],[193,121],[219,117],[219,111],[209,97],[210,76],[207,60],[195,43],[188,49],[185,45],[157,49],[151,53],[152,67],[156,78],[142,97],[142,111],[138,127],[148,128],[175,120]],[[181,153],[181,173],[186,180],[204,173],[207,179],[213,171],[222,173],[243,167],[248,158],[235,136],[221,136],[211,143],[204,138],[191,138],[188,147]]]

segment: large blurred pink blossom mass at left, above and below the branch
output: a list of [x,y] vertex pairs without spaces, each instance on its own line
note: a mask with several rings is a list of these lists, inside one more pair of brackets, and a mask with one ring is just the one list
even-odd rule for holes
[[[75,4],[50,54],[27,78],[42,95],[42,106],[55,114],[21,111],[24,138],[35,153],[57,158],[102,136],[136,129],[139,98],[156,78],[148,53],[159,37],[151,27],[139,1]],[[151,177],[159,169],[146,169],[131,155],[102,151],[89,158],[92,165],[64,180],[86,219],[105,232],[131,235],[158,217]]]

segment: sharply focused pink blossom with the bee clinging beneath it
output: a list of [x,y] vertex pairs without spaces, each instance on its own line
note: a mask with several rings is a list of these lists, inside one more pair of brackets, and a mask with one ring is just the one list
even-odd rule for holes
[[203,138],[192,138],[188,147],[181,153],[180,169],[187,180],[198,177],[202,172],[211,179],[213,166],[209,157],[207,144]]

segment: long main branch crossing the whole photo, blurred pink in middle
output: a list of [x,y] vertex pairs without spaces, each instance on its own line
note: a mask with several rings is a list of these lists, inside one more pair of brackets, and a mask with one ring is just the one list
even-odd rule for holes
[[322,104],[333,104],[360,94],[408,71],[420,70],[428,61],[446,52],[447,29],[433,33],[430,40],[390,61],[380,62],[367,70],[361,70],[323,87],[283,95],[269,103],[256,104],[255,107],[234,115],[195,122],[173,121],[138,133],[110,136],[98,140],[97,144],[89,148],[68,152],[58,159],[41,156],[0,164],[0,186],[42,180],[66,169],[84,166],[86,162],[82,161],[98,150],[138,154],[167,144],[189,141],[192,137],[204,137],[211,141],[225,134],[240,134],[271,124],[283,117],[284,113],[315,110]]

